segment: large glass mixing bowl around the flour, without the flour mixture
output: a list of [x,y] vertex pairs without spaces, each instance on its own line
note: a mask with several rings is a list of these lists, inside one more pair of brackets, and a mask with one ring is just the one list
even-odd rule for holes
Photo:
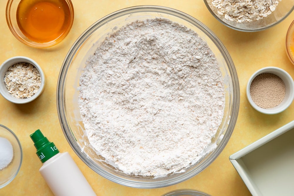
[[[78,106],[79,77],[87,59],[110,33],[138,19],[161,17],[185,25],[198,33],[211,48],[219,63],[225,86],[225,111],[212,145],[217,147],[182,173],[164,177],[128,175],[108,164],[91,147]],[[180,11],[159,6],[135,6],[116,11],[90,26],[69,50],[57,84],[57,110],[61,128],[75,153],[92,170],[121,185],[136,188],[165,187],[187,180],[210,165],[225,148],[233,132],[239,110],[239,82],[233,61],[216,35],[195,18]],[[210,146],[209,146],[210,147]],[[208,147],[208,148],[209,148]]]

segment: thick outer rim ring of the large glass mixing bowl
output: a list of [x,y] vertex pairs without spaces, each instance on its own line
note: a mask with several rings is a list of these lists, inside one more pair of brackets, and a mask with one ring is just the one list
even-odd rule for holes
[[206,160],[206,162],[203,163],[203,168],[205,169],[208,167],[220,154],[220,152],[224,149],[225,145],[228,143],[228,140],[230,139],[230,136],[233,133],[233,129],[235,127],[235,123],[238,117],[238,110],[239,110],[239,105],[240,105],[240,90],[239,90],[239,81],[238,81],[238,75],[235,70],[234,63],[226,50],[225,46],[223,43],[218,39],[218,37],[210,30],[208,29],[207,26],[205,26],[203,23],[198,21],[197,19],[193,18],[192,16],[185,14],[181,11],[178,11],[176,9],[168,8],[168,7],[163,7],[163,6],[133,6],[133,7],[128,7],[124,8],[118,11],[115,11],[111,14],[108,14],[107,16],[104,16],[100,20],[96,21],[94,24],[92,24],[88,29],[86,29],[81,36],[78,37],[78,39],[74,42],[74,44],[71,46],[69,49],[69,52],[67,53],[64,62],[61,66],[59,77],[58,77],[58,82],[57,82],[57,92],[56,92],[56,106],[57,106],[57,112],[59,116],[59,121],[61,128],[63,130],[63,133],[66,137],[66,140],[68,141],[69,145],[71,148],[74,150],[74,152],[78,155],[78,157],[86,164],[88,167],[90,167],[93,171],[98,173],[99,175],[107,178],[108,180],[111,180],[112,182],[116,182],[121,185],[129,186],[129,187],[135,187],[135,188],[159,188],[159,187],[166,187],[170,186],[179,182],[182,182],[184,180],[187,180],[196,174],[200,173],[201,171],[193,171],[189,172],[189,175],[182,175],[178,176],[177,178],[171,178],[167,180],[161,180],[161,181],[154,181],[154,182],[143,182],[143,181],[136,181],[136,180],[129,180],[125,179],[123,177],[113,175],[101,167],[93,167],[89,160],[86,158],[86,156],[79,150],[79,146],[76,144],[76,138],[71,132],[71,128],[67,124],[66,120],[66,115],[63,111],[65,111],[65,98],[64,98],[64,91],[65,91],[65,80],[66,80],[66,75],[67,71],[69,69],[70,63],[74,56],[76,55],[76,52],[79,51],[79,48],[83,46],[83,42],[91,35],[91,32],[95,31],[96,29],[99,28],[99,26],[103,25],[108,21],[108,19],[111,18],[117,18],[121,15],[126,15],[131,14],[131,13],[137,13],[137,12],[143,12],[143,11],[149,11],[149,12],[160,12],[160,13],[167,13],[167,14],[175,14],[174,16],[182,16],[186,21],[187,19],[193,21],[194,23],[197,24],[197,28],[199,28],[201,31],[206,33],[206,35],[213,41],[213,43],[218,47],[218,50],[220,50],[220,53],[222,54],[223,58],[225,59],[227,63],[227,68],[232,76],[232,78],[235,78],[234,80],[231,80],[232,86],[233,86],[233,91],[235,94],[232,94],[232,102],[233,104],[231,105],[231,116],[229,120],[229,125],[228,128],[226,129],[225,136],[219,143],[218,147],[216,148],[215,151],[213,151],[213,156],[211,156],[210,160]]

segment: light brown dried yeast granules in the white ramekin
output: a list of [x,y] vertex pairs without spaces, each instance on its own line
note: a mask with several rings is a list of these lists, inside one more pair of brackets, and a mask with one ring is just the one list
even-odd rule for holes
[[260,108],[274,108],[285,98],[286,88],[283,80],[273,73],[256,76],[250,85],[250,96]]

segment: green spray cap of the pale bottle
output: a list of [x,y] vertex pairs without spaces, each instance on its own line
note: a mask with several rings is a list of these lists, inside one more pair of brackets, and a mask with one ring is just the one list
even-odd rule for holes
[[40,129],[36,130],[33,134],[30,135],[31,139],[34,142],[34,146],[37,149],[37,156],[42,163],[45,163],[51,157],[59,153],[59,150],[56,148],[53,142],[44,137]]

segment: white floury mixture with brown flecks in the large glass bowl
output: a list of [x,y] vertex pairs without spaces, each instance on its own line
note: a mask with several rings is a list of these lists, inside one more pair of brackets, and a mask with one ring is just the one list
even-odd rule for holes
[[90,144],[126,174],[183,172],[207,153],[223,118],[215,55],[194,31],[167,19],[135,21],[111,34],[79,82]]

